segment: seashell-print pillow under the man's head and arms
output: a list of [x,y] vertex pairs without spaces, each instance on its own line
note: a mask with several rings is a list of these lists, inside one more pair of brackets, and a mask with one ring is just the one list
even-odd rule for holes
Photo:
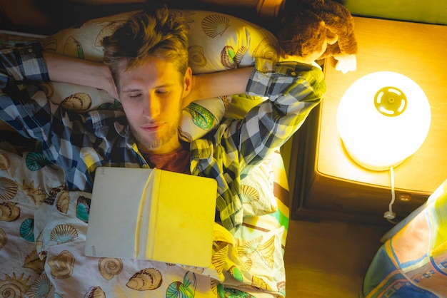
[[[44,38],[42,46],[68,56],[102,61],[101,40],[136,11],[86,21]],[[278,43],[266,29],[234,16],[211,11],[171,10],[189,26],[189,64],[193,73],[210,73],[253,66],[255,58],[276,59]],[[69,83],[44,83],[47,96],[66,109],[87,111],[121,108],[109,93]],[[179,135],[183,140],[201,138],[216,127],[231,105],[231,95],[191,103],[183,111]],[[241,115],[243,116],[243,115]]]

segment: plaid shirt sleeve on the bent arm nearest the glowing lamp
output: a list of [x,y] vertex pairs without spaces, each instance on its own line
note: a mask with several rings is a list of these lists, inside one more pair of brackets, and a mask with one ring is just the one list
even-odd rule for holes
[[237,129],[230,128],[243,166],[258,163],[268,150],[283,145],[320,103],[326,83],[316,66],[259,59],[246,92],[268,100],[251,109]]

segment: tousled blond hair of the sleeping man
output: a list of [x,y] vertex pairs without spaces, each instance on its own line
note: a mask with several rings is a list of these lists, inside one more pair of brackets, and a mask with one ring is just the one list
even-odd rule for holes
[[188,28],[183,18],[170,14],[164,5],[133,14],[102,44],[104,63],[111,69],[117,88],[123,63],[129,70],[154,56],[174,62],[182,75],[188,68]]

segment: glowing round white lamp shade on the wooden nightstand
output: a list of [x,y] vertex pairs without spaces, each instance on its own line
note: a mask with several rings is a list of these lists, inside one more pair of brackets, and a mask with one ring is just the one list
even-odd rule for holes
[[348,88],[336,120],[343,145],[356,163],[370,170],[388,170],[423,144],[431,111],[426,94],[413,80],[378,71]]

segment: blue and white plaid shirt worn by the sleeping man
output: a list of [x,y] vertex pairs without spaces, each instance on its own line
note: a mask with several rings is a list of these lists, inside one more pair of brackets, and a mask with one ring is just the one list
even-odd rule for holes
[[[124,113],[74,113],[47,100],[49,81],[39,43],[0,49],[0,118],[26,138],[41,142],[46,158],[64,168],[69,190],[91,192],[99,166],[148,167]],[[191,142],[191,174],[215,178],[222,225],[242,222],[240,175],[260,163],[298,130],[326,91],[321,69],[300,63],[256,61],[246,93],[268,100],[242,120],[224,120]]]

